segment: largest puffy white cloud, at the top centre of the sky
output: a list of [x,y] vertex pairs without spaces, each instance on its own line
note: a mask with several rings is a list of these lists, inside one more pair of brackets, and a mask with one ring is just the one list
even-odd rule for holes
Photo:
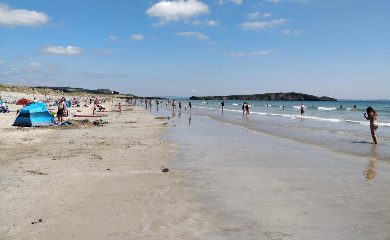
[[198,0],[161,1],[153,4],[146,11],[150,17],[160,18],[160,23],[154,24],[155,26],[208,13],[210,13],[209,6]]

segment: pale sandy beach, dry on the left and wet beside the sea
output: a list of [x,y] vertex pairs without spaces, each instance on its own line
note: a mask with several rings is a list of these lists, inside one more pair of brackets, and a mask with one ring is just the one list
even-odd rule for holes
[[129,108],[102,126],[2,126],[1,239],[390,237],[388,164]]

